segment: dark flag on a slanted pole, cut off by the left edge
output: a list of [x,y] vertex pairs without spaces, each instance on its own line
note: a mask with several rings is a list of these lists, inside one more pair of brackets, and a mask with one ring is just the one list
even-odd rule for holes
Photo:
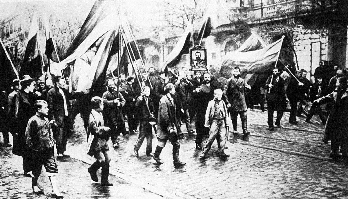
[[0,39],[0,87],[5,91],[11,91],[11,83],[14,79],[19,78],[16,68],[6,51],[5,46]]

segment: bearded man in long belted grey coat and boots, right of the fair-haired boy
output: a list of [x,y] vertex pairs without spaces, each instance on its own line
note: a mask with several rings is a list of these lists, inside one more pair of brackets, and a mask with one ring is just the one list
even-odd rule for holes
[[233,126],[233,133],[237,132],[237,116],[240,115],[240,120],[242,121],[242,129],[244,136],[250,134],[247,131],[247,117],[246,117],[246,102],[244,97],[244,92],[248,92],[251,86],[248,85],[244,79],[240,78],[240,68],[238,66],[234,67],[233,77],[229,78],[223,89],[223,95],[225,98],[225,104],[231,113],[231,120]]

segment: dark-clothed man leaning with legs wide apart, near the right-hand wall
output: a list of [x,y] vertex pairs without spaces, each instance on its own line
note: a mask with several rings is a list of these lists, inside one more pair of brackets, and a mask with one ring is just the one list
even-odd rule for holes
[[323,97],[323,90],[322,90],[322,78],[318,78],[315,80],[315,84],[309,89],[309,101],[313,103],[313,105],[310,107],[309,114],[307,115],[306,122],[312,124],[310,119],[313,117],[316,110],[318,110],[318,115],[320,119],[322,120],[323,124],[325,125],[326,119],[324,117],[323,110],[320,106],[318,106],[318,103],[314,103],[316,99],[319,99]]

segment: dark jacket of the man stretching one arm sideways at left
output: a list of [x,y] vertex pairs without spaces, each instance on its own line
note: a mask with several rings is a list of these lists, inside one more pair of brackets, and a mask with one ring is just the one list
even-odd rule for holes
[[[69,100],[71,99],[77,99],[82,96],[84,96],[84,92],[74,92],[69,93],[67,90],[62,89],[65,95],[65,101],[66,106],[68,108],[68,115],[71,116],[71,105],[69,103]],[[64,99],[62,94],[59,92],[58,87],[54,86],[52,89],[50,89],[47,93],[47,105],[48,105],[48,120],[55,120],[59,127],[63,127],[64,125],[64,117],[65,117],[65,110],[64,110]]]

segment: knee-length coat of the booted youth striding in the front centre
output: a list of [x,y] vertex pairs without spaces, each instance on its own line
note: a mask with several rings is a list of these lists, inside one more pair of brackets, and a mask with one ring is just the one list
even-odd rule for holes
[[159,101],[157,137],[169,139],[170,130],[176,128],[175,104],[173,104],[167,95],[163,95]]

